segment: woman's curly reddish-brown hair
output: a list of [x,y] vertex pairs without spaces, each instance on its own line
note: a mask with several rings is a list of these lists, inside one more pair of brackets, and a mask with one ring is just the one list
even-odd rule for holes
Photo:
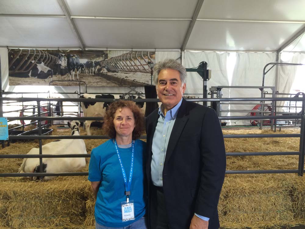
[[141,136],[144,130],[144,115],[141,114],[140,108],[135,104],[135,102],[129,100],[117,100],[111,103],[106,111],[103,124],[103,132],[110,138],[116,137],[116,131],[113,124],[115,112],[123,107],[129,108],[135,118],[135,129],[132,131],[132,140],[136,140]]

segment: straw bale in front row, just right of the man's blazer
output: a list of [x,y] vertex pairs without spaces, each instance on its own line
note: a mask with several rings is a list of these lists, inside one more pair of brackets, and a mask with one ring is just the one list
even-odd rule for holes
[[273,228],[289,223],[294,220],[290,186],[289,177],[281,174],[226,175],[219,202],[221,225]]

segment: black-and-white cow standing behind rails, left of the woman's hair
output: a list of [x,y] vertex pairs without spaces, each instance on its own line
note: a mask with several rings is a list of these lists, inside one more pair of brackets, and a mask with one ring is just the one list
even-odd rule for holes
[[[96,99],[114,99],[113,95],[96,95],[96,94],[84,94],[80,98],[96,98]],[[81,108],[83,109],[84,117],[104,117],[106,110],[108,109],[111,102],[81,102]],[[94,121],[86,120],[84,128],[86,129],[87,135],[91,135],[90,125]]]

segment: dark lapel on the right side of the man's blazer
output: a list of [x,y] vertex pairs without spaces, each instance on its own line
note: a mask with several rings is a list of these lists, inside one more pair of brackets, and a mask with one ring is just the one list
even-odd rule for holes
[[169,160],[170,156],[173,154],[174,148],[178,142],[178,139],[185,127],[185,124],[188,121],[186,106],[187,106],[187,101],[182,99],[182,103],[179,108],[172,132],[170,134],[170,139],[168,141],[164,165],[166,165],[166,162]]

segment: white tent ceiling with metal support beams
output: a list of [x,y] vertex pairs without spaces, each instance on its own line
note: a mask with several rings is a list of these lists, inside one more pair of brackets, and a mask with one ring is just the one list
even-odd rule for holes
[[2,47],[305,52],[304,31],[305,0],[0,0]]

